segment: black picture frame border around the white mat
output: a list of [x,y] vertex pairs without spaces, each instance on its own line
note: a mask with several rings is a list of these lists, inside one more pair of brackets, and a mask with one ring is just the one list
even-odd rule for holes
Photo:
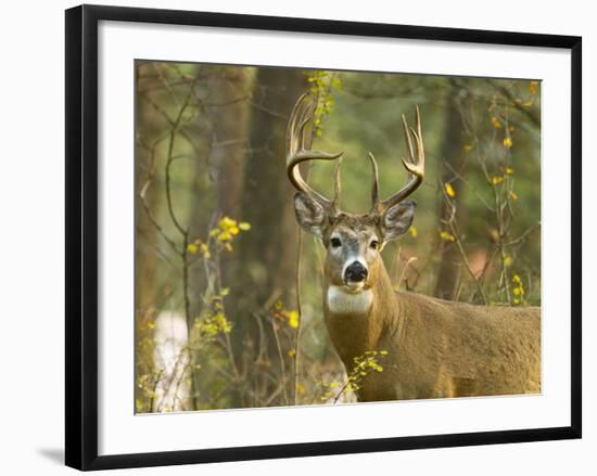
[[[550,428],[98,455],[98,23],[196,25],[277,31],[528,46],[571,51],[571,425]],[[240,34],[240,31],[239,31]],[[328,455],[581,438],[582,39],[329,20],[81,5],[66,11],[66,438],[78,469]]]

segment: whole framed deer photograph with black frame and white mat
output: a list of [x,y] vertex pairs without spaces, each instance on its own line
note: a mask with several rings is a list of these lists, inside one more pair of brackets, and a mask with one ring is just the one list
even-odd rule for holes
[[581,437],[581,38],[66,11],[66,464]]

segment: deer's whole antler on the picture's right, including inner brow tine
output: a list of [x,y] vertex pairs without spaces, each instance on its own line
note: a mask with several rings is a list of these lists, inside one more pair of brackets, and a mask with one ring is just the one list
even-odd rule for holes
[[[416,111],[416,130],[411,127],[408,127],[404,114],[402,116],[403,127],[404,127],[404,137],[406,145],[408,147],[408,160],[405,158],[402,159],[404,167],[410,173],[408,182],[404,185],[398,192],[388,197],[386,200],[380,202],[379,200],[379,178],[378,178],[378,165],[376,157],[369,153],[369,158],[371,160],[371,166],[373,169],[373,185],[371,192],[371,198],[373,205],[371,206],[371,213],[383,214],[388,208],[396,205],[397,203],[405,200],[410,195],[423,181],[424,177],[424,147],[423,147],[423,136],[421,132],[421,114],[419,112],[419,106]],[[415,140],[415,149],[412,147],[412,140]]]

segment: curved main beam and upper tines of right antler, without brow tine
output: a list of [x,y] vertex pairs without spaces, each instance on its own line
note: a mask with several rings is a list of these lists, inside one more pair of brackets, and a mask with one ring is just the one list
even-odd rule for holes
[[[419,106],[416,108],[416,129],[408,127],[406,118],[403,115],[404,134],[406,138],[406,145],[408,149],[408,160],[403,158],[403,165],[410,173],[408,182],[398,192],[384,200],[380,205],[380,210],[383,211],[391,206],[402,202],[415,190],[419,188],[424,178],[424,147],[423,136],[421,131],[421,114]],[[412,140],[415,141],[415,147],[412,146]]]

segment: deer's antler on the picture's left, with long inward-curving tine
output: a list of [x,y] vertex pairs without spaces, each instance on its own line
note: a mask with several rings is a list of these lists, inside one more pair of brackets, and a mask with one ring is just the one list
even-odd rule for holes
[[[307,99],[309,95],[312,98]],[[313,190],[308,185],[308,183],[303,179],[303,176],[301,175],[301,169],[298,167],[298,165],[302,162],[317,160],[317,159],[334,160],[343,154],[342,152],[338,154],[329,154],[326,152],[310,150],[310,138],[306,137],[307,134],[305,132],[305,127],[309,121],[313,120],[316,104],[317,104],[316,98],[313,97],[310,92],[306,92],[301,98],[298,98],[298,101],[296,101],[296,104],[292,110],[292,115],[290,117],[290,121],[288,125],[288,132],[287,132],[287,143],[288,143],[287,172],[288,172],[288,178],[290,179],[292,184],[296,188],[296,190],[298,190],[300,192],[306,193],[308,196],[310,196],[316,202],[318,202],[319,205],[321,205],[328,211],[336,213],[338,194],[340,191],[339,170],[336,169],[336,173],[335,173],[336,196],[334,197],[333,201],[330,201],[326,198],[323,195],[317,193],[315,190]]]

